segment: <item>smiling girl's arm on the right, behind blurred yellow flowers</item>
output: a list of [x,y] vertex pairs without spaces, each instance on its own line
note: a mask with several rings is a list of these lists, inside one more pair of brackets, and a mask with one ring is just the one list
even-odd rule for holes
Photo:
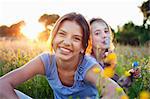
[[[112,99],[119,98],[122,95],[125,95],[122,90],[119,94],[116,91],[116,88],[120,88],[120,86],[110,78],[104,78],[101,73],[94,73],[94,68],[100,68],[99,65],[93,66],[86,73],[86,80],[91,82],[93,85],[97,87],[98,90],[101,91],[101,96],[103,99]],[[101,70],[102,71],[102,70]]]

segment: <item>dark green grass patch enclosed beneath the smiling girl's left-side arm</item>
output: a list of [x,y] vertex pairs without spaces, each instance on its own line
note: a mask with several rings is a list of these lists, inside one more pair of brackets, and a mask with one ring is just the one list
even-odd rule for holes
[[34,99],[53,98],[53,91],[44,76],[37,75],[19,85],[17,89]]

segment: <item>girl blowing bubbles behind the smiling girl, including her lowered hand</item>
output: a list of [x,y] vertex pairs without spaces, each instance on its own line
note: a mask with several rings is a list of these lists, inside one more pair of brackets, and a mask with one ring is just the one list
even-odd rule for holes
[[[111,70],[114,72],[117,57],[114,52],[113,33],[109,25],[101,18],[92,18],[89,23],[91,27],[91,46],[89,46],[88,53],[96,58],[104,70],[112,68]],[[122,79],[122,77],[119,77],[113,72],[110,78],[126,89],[131,85],[131,80],[140,74],[140,72],[130,69],[128,72],[131,73],[131,75],[135,75],[135,77],[129,76],[128,78]]]

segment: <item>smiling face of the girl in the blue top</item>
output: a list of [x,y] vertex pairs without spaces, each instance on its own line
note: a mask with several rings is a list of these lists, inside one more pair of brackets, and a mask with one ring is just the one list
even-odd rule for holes
[[79,59],[83,50],[82,29],[75,21],[64,21],[53,40],[53,48],[57,58],[61,60]]

